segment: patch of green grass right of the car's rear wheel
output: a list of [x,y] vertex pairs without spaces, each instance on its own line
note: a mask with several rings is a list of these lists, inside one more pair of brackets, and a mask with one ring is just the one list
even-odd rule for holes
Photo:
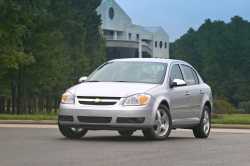
[[215,115],[212,119],[214,124],[242,124],[250,125],[250,114]]

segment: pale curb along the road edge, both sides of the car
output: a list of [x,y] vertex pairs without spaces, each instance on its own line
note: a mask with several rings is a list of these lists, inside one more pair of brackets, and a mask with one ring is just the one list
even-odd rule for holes
[[[0,120],[0,124],[24,124],[24,125],[57,125],[56,120]],[[212,128],[218,129],[250,129],[250,125],[237,124],[212,124]]]

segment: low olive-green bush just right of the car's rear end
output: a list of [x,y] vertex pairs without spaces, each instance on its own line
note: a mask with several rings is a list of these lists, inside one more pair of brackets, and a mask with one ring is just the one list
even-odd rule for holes
[[228,101],[219,99],[214,101],[214,112],[216,114],[233,114],[237,109]]

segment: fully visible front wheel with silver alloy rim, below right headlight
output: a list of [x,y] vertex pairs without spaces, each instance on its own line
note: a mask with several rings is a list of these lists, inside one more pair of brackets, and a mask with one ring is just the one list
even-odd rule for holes
[[[160,117],[160,118],[159,118]],[[160,105],[155,117],[155,125],[144,129],[143,135],[150,140],[165,140],[172,130],[172,119],[168,107]]]

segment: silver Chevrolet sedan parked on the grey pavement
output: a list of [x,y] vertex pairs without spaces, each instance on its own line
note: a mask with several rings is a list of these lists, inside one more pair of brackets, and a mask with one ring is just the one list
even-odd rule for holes
[[117,130],[129,137],[142,130],[148,139],[166,139],[172,129],[210,134],[212,93],[188,63],[170,59],[118,59],[97,68],[68,89],[58,125],[67,138],[88,130]]

